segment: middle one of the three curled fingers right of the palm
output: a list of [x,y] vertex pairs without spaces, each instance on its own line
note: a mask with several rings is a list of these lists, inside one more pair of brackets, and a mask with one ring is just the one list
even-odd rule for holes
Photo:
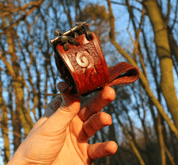
[[98,130],[111,124],[112,124],[112,118],[109,114],[105,112],[98,112],[97,114],[92,115],[88,120],[84,122],[83,129],[89,139]]

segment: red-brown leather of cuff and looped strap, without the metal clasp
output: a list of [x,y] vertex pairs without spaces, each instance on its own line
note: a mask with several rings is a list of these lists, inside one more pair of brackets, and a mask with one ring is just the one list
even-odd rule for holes
[[[79,42],[79,46],[69,44],[67,51],[59,44],[56,46],[58,55],[72,76],[71,78],[69,76],[70,81],[68,83],[73,80],[73,87],[76,89],[72,93],[70,91],[73,88],[69,87],[65,92],[75,95],[87,95],[102,89],[104,86],[135,82],[139,77],[139,70],[129,63],[121,62],[111,69],[107,69],[98,38],[93,32],[92,36],[93,40],[88,41],[84,34],[80,35],[75,38]],[[61,72],[62,77],[65,77],[61,64],[58,64],[58,70]]]

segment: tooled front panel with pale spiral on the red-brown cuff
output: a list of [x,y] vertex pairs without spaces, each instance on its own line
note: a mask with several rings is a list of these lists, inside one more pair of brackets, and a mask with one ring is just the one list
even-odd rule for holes
[[[101,68],[100,55],[92,42],[69,48],[67,56],[74,70],[78,71],[80,82],[84,82],[87,91],[96,89],[105,84],[105,73]],[[86,92],[87,92],[86,91]]]

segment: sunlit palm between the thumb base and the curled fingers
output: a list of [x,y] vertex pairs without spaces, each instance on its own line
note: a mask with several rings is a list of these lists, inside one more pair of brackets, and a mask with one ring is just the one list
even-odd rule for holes
[[[87,143],[88,139],[85,132],[82,130],[82,126],[83,121],[76,116],[66,130],[64,146],[53,165],[91,164],[91,159],[87,154],[87,148],[89,145]],[[83,139],[81,139],[81,137],[83,137]]]

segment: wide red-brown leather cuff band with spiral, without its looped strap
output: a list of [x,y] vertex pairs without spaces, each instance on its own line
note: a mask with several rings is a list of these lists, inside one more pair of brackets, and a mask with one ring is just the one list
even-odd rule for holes
[[[102,54],[102,50],[96,35],[92,32],[93,39],[88,41],[85,34],[75,38],[78,46],[69,44],[65,51],[63,46],[57,45],[56,50],[60,55],[63,64],[71,73],[74,80],[73,86],[77,92],[73,94],[82,95],[103,87],[109,81],[108,69]],[[60,66],[58,70],[60,70]],[[63,75],[62,77],[65,77]]]

